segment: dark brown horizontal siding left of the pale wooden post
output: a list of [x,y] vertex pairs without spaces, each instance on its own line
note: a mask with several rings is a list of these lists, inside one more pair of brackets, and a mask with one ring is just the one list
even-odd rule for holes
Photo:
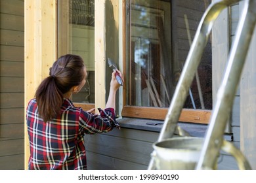
[[24,0],[0,2],[0,169],[23,169]]

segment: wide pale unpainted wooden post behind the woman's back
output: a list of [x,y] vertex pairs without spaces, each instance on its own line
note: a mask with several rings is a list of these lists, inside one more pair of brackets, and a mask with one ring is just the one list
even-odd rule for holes
[[56,60],[56,0],[24,1],[24,7],[24,169],[28,169],[26,107]]

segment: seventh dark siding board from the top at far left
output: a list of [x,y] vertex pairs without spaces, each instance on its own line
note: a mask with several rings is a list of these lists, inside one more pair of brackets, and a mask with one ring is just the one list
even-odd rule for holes
[[24,93],[1,93],[0,108],[24,107]]

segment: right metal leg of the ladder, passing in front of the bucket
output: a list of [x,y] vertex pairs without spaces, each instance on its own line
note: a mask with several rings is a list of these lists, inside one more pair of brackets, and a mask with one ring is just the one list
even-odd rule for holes
[[219,150],[221,150],[226,120],[232,110],[234,95],[240,82],[247,50],[255,29],[255,22],[256,1],[245,0],[242,18],[238,24],[237,35],[230,51],[223,82],[217,93],[216,105],[213,108],[196,169],[211,169],[217,159]]

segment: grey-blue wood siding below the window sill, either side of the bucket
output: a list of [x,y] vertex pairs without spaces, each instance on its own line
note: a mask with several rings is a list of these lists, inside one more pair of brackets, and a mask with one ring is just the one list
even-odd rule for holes
[[[157,141],[157,131],[122,127],[100,135],[85,135],[87,168],[89,170],[146,170]],[[221,152],[218,169],[236,170],[232,156]]]

